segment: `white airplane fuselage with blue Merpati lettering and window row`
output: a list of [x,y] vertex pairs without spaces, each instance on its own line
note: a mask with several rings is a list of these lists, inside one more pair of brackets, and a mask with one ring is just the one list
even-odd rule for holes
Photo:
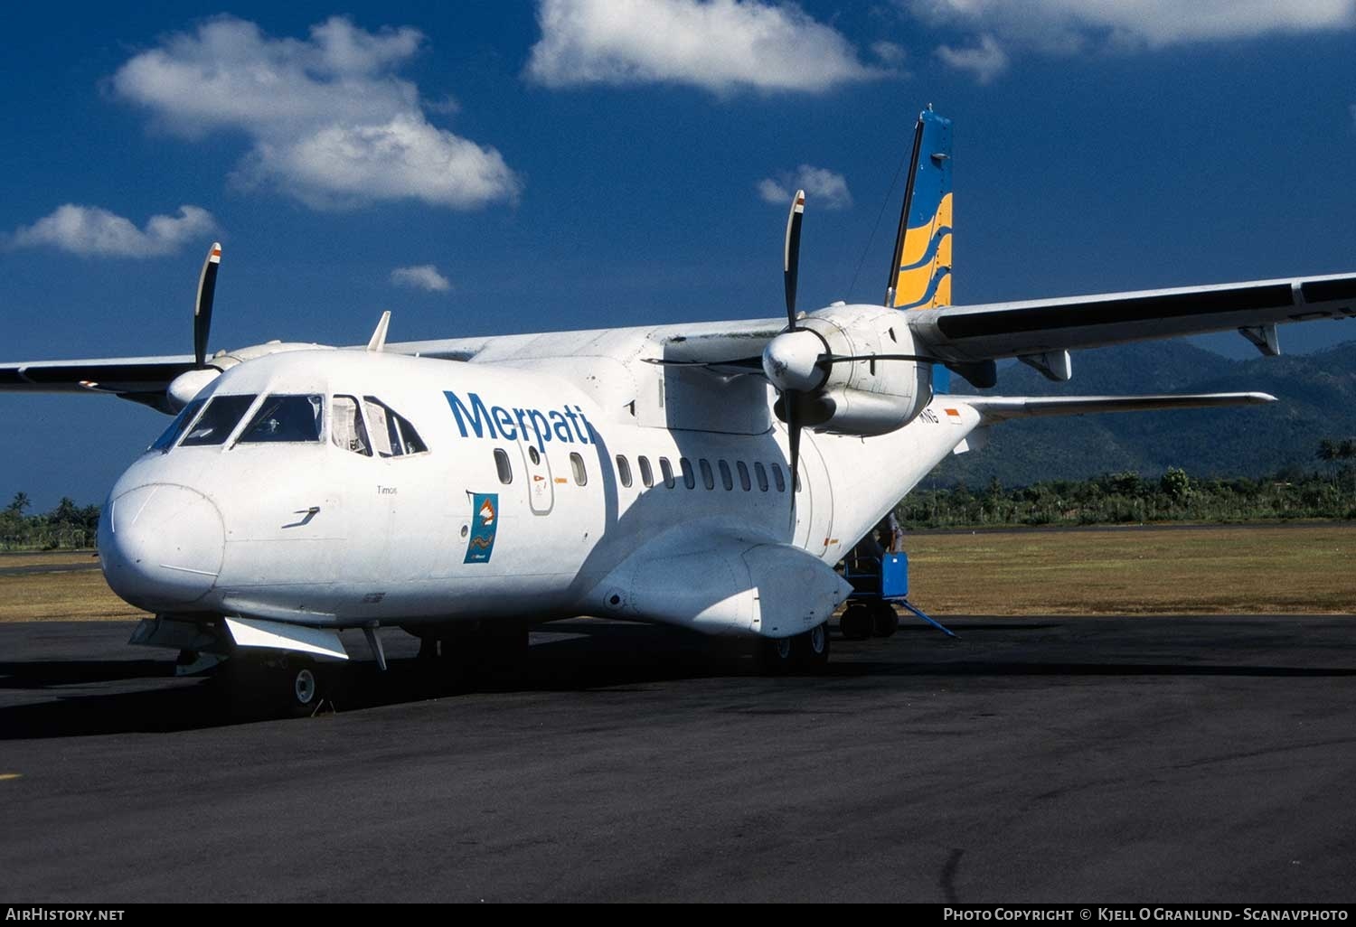
[[[978,420],[934,401],[890,435],[807,434],[795,492],[770,416],[754,434],[641,426],[633,403],[603,407],[574,381],[346,350],[233,367],[210,390],[241,397],[229,432],[148,450],[110,492],[104,573],[130,603],[182,617],[601,614],[605,577],[679,526],[835,562]],[[247,439],[273,397],[313,397],[315,434]],[[336,420],[350,404],[367,408],[361,438]],[[384,455],[373,409],[412,427],[405,453]]]

